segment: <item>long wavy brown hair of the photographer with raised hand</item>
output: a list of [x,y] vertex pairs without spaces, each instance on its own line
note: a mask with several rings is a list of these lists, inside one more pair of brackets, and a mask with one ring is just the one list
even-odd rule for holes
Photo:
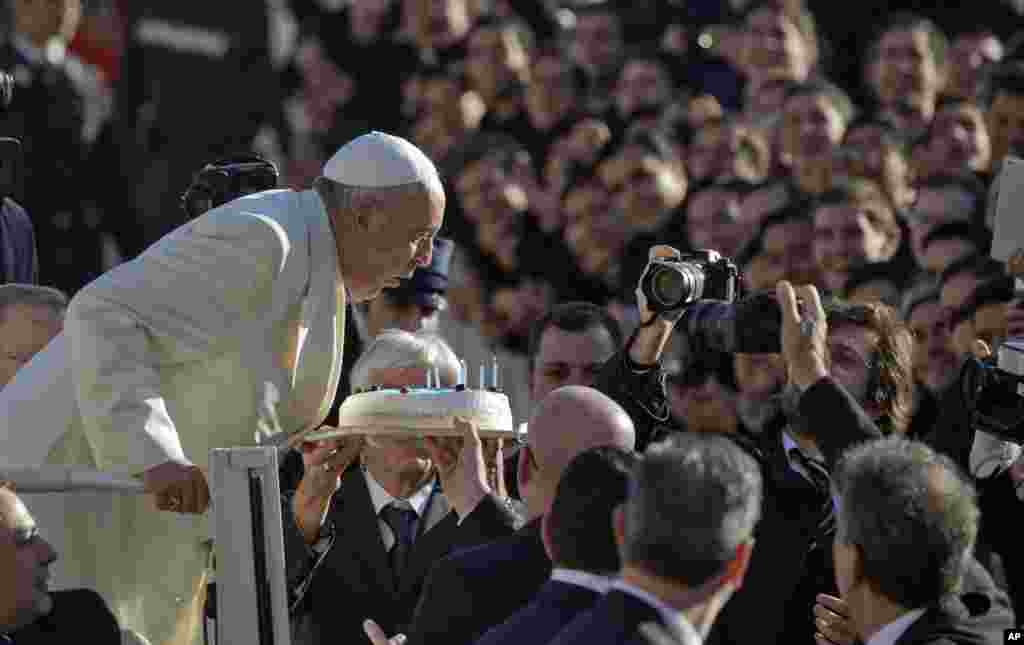
[[828,329],[861,327],[878,336],[866,398],[878,406],[883,431],[903,432],[913,410],[913,337],[892,307],[881,302],[827,299]]

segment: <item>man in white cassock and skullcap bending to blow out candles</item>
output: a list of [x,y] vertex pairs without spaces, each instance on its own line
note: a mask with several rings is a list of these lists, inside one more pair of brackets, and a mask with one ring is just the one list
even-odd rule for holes
[[[63,334],[0,392],[0,440],[57,428],[48,462],[137,476],[152,493],[67,511],[68,575],[103,594],[122,628],[171,642],[209,561],[210,449],[253,445],[267,401],[288,432],[323,423],[346,297],[429,264],[443,212],[422,152],[360,136],[313,189],[214,209],[83,289]],[[65,381],[75,401],[59,397]]]

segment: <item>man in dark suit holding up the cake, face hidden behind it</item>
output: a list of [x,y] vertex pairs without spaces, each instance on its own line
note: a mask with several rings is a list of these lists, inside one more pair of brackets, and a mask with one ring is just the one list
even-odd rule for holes
[[[423,356],[434,358],[427,364]],[[458,362],[443,341],[393,330],[360,356],[353,385],[422,384],[428,368],[454,384]],[[449,451],[431,440],[425,450],[416,437],[322,443],[304,456],[285,519],[293,614],[306,618],[297,622],[309,628],[313,643],[365,642],[368,615],[389,631],[404,630],[431,564],[508,535],[518,521],[483,476],[475,434],[465,437],[454,463]]]

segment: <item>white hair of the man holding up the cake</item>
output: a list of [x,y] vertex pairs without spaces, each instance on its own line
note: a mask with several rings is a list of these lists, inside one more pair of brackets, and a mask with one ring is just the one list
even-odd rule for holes
[[384,330],[362,352],[349,378],[352,391],[380,383],[371,383],[374,370],[387,368],[437,368],[451,378],[459,372],[459,357],[440,337],[412,334],[402,330]]

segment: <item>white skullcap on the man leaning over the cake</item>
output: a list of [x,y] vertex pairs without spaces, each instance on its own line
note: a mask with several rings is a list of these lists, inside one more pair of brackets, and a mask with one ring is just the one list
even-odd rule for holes
[[358,136],[334,154],[323,175],[360,188],[386,188],[422,183],[440,188],[433,162],[406,139],[384,132]]

